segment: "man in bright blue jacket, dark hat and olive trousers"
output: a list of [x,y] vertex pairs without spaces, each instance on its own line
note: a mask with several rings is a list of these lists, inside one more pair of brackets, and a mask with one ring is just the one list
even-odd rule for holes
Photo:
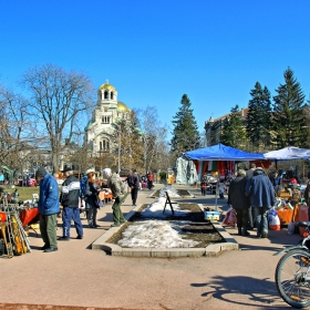
[[37,170],[35,178],[40,182],[38,209],[40,213],[41,237],[44,241],[44,246],[41,249],[44,252],[56,251],[56,217],[60,213],[58,183],[52,175],[48,174],[44,167],[40,167]]

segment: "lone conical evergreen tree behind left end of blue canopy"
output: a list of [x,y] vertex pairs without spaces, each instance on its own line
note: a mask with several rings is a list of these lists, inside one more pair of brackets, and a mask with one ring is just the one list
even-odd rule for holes
[[186,94],[182,96],[182,106],[172,121],[174,125],[172,137],[172,151],[184,153],[200,146],[200,136],[196,120],[190,108],[190,101]]

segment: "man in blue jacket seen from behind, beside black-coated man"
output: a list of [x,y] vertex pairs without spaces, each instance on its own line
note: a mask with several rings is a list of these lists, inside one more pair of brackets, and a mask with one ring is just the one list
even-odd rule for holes
[[256,168],[246,185],[256,217],[257,237],[268,237],[268,210],[276,204],[273,186],[262,168]]

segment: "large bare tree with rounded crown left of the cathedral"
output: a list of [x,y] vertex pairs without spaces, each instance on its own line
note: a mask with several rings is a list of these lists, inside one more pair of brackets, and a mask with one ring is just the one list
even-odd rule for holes
[[[59,170],[60,154],[82,132],[82,114],[93,107],[91,80],[75,71],[45,64],[29,69],[22,78],[37,132],[48,138],[53,172]],[[74,141],[73,141],[74,142]]]

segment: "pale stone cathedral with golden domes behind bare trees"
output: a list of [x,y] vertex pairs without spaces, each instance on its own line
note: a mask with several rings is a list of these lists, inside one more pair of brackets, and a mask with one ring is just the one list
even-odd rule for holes
[[97,91],[96,107],[85,127],[85,142],[93,156],[112,152],[115,131],[113,124],[120,120],[130,120],[130,114],[131,110],[126,104],[117,101],[116,89],[106,80],[106,83]]

